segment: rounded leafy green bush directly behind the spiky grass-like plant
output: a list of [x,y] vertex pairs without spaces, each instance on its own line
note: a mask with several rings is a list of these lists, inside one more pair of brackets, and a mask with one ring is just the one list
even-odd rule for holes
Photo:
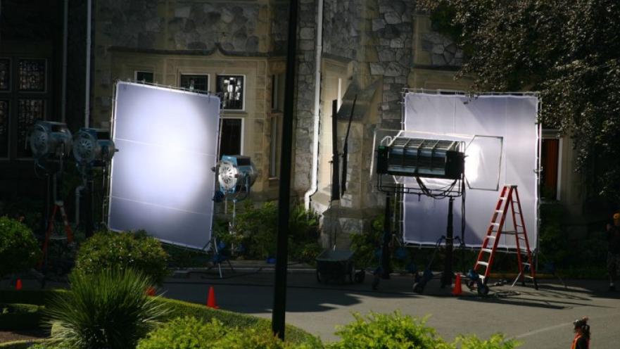
[[102,270],[131,267],[161,284],[168,274],[168,255],[161,243],[146,232],[115,233],[100,231],[77,251],[75,270],[96,274]]

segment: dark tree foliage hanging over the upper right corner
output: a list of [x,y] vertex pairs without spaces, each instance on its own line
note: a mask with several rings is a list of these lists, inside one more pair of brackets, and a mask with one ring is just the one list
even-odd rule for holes
[[620,2],[420,0],[467,55],[474,90],[540,91],[545,127],[574,140],[586,194],[620,198]]

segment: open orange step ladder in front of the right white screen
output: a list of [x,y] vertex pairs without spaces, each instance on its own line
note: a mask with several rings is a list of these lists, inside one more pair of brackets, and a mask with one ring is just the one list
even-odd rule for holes
[[[504,224],[509,210],[512,215],[513,229],[504,230]],[[538,289],[536,270],[533,265],[532,252],[530,250],[525,222],[521,212],[521,202],[519,201],[517,186],[505,185],[498,199],[498,204],[495,205],[495,211],[493,211],[493,215],[491,216],[491,224],[488,226],[482,248],[476,259],[476,264],[474,264],[474,272],[480,274],[480,278],[484,284],[486,284],[488,276],[491,274],[491,267],[493,266],[493,259],[495,258],[500,236],[502,236],[502,234],[509,234],[514,235],[517,241],[517,261],[519,263],[519,275],[517,279],[514,280],[512,286],[514,286],[519,279],[521,279],[522,284],[525,284],[525,279],[527,278],[531,279],[534,288]],[[478,271],[478,269],[482,267],[485,268],[484,273]],[[527,272],[529,272],[529,274],[526,274]]]

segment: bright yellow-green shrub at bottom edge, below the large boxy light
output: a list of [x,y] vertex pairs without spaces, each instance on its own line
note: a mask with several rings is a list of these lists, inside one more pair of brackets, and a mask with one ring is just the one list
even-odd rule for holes
[[436,336],[435,330],[426,326],[426,319],[413,319],[409,315],[377,314],[366,317],[354,314],[355,321],[340,327],[336,334],[341,341],[328,345],[330,349],[442,349],[452,348]]

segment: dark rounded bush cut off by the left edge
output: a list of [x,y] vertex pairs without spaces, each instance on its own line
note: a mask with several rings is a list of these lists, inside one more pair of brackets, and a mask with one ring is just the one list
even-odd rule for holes
[[37,264],[41,249],[32,231],[8,217],[0,217],[0,277],[23,272]]

